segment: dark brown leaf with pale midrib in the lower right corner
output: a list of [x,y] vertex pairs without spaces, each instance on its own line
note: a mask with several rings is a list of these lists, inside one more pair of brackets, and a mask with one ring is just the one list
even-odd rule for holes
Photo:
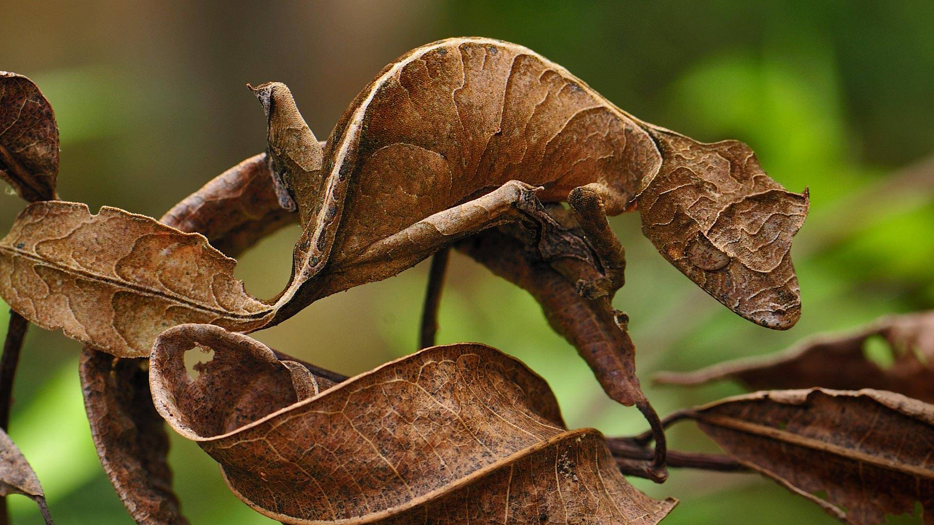
[[[882,390],[771,390],[683,417],[842,521],[882,523],[920,502],[925,523],[934,522],[934,405]],[[814,495],[820,491],[827,501]]]

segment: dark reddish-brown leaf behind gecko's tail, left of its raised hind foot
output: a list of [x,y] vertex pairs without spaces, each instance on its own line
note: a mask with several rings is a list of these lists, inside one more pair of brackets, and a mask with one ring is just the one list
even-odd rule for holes
[[239,163],[191,193],[160,221],[205,235],[211,246],[237,257],[262,237],[296,222],[279,206],[265,153]]

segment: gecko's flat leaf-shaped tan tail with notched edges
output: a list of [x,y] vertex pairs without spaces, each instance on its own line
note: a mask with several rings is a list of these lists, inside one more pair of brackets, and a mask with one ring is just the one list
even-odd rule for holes
[[145,356],[177,324],[262,326],[270,306],[248,295],[235,264],[204,235],[149,217],[40,202],[0,240],[0,295],[43,328],[115,356]]

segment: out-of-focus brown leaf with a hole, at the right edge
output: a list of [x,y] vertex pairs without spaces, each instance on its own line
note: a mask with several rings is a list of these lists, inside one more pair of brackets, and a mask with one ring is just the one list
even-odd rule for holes
[[[866,345],[877,337],[891,351],[888,366],[866,355]],[[752,390],[891,390],[934,403],[934,312],[887,316],[854,333],[818,335],[774,356],[654,376],[658,383],[686,386],[720,379],[736,379]]]

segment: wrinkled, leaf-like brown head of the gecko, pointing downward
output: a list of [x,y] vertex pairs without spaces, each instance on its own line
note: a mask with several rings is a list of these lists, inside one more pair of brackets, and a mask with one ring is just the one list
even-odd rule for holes
[[742,142],[702,144],[649,129],[662,163],[636,197],[643,231],[669,262],[744,319],[776,330],[801,312],[791,238],[808,192],[786,192]]

